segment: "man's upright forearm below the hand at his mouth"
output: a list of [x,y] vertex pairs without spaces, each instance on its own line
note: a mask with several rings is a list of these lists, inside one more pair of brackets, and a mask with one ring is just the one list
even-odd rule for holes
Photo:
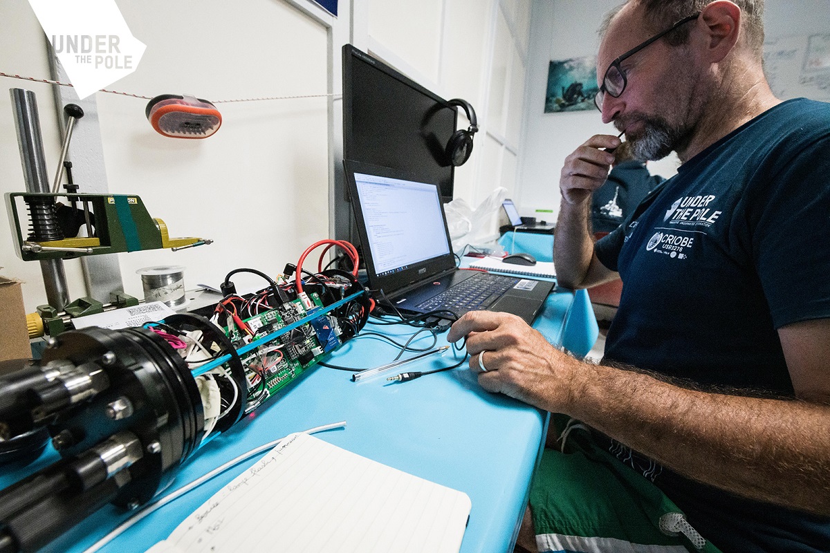
[[565,288],[579,288],[593,257],[593,237],[588,228],[590,199],[572,205],[562,198],[554,231],[556,277]]

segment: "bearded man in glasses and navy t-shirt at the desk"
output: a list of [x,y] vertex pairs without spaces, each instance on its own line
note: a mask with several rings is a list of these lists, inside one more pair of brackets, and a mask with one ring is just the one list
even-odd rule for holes
[[[642,458],[721,551],[828,551],[830,105],[774,98],[761,11],[630,0],[608,21],[603,121],[637,158],[675,151],[682,165],[596,244],[591,195],[619,139],[589,138],[562,170],[559,284],[625,283],[603,366],[506,314],[467,313],[447,338],[467,337],[486,390],[583,421],[632,466]],[[534,526],[543,507],[531,501]]]

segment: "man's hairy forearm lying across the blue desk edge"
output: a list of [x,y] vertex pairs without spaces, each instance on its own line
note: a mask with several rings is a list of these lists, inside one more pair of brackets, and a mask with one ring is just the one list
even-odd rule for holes
[[688,390],[585,363],[574,374],[568,415],[688,478],[830,515],[830,406]]

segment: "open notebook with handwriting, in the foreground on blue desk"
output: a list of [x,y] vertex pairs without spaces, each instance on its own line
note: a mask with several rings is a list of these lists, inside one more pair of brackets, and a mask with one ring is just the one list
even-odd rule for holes
[[457,552],[466,493],[291,434],[148,553]]

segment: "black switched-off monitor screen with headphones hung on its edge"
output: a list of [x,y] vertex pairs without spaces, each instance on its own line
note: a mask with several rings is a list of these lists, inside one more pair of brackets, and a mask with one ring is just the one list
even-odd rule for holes
[[445,148],[457,110],[415,81],[349,44],[343,47],[343,157],[392,167],[436,184],[452,199]]

